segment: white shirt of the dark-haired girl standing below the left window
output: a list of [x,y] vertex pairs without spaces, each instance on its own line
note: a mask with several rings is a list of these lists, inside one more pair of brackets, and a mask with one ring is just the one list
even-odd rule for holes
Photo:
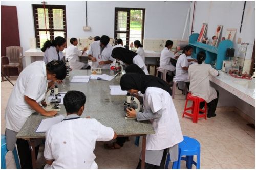
[[[62,58],[64,57],[65,55],[63,54],[62,51],[59,51],[59,60],[62,60]],[[55,46],[50,46],[50,48],[47,48],[45,53],[44,53],[44,59],[43,61],[45,63],[49,63],[51,62],[52,60],[58,60],[58,53],[57,53],[57,50],[56,50],[56,47]]]

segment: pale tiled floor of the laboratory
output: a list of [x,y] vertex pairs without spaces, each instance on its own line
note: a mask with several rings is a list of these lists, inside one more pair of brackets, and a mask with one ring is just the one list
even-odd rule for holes
[[[11,78],[15,83],[15,78]],[[5,131],[5,107],[12,85],[1,82],[1,134]],[[221,95],[221,94],[220,94]],[[254,169],[255,168],[255,130],[247,126],[246,120],[234,112],[217,112],[217,116],[207,120],[200,119],[197,124],[192,123],[190,118],[182,118],[185,105],[185,96],[176,90],[174,104],[178,112],[183,135],[197,139],[201,144],[201,168],[205,169]],[[105,150],[102,142],[96,143],[94,151],[96,163],[99,168],[116,169],[136,168],[140,152],[139,147],[134,145],[134,137],[124,144],[120,150]],[[141,140],[140,140],[141,142]],[[44,165],[40,148],[38,156],[38,168]],[[15,168],[12,154],[8,152],[6,157],[7,168]],[[169,164],[169,168],[172,163]],[[185,162],[181,168],[186,168]],[[195,168],[193,166],[193,168]]]

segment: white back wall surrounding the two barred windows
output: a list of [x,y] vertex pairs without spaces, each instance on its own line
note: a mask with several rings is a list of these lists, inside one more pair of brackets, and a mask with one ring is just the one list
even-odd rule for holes
[[[145,8],[144,39],[181,39],[190,2],[147,1],[88,1],[86,25],[85,1],[47,1],[50,5],[66,5],[68,37],[94,37],[108,35],[114,38],[115,7]],[[20,44],[23,51],[30,48],[29,38],[35,37],[31,4],[41,1],[1,1],[1,5],[17,6]]]

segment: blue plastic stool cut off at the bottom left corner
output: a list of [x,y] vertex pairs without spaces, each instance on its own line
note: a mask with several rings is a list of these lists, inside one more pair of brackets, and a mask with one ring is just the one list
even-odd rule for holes
[[[7,147],[6,147],[6,137],[5,137],[5,135],[1,135],[1,169],[6,169],[5,156],[6,156],[7,152],[8,152],[8,150],[7,150]],[[18,153],[17,153],[16,147],[14,148],[12,153],[13,153],[13,156],[14,156],[16,167],[17,167],[17,169],[20,169],[19,160],[18,160]]]

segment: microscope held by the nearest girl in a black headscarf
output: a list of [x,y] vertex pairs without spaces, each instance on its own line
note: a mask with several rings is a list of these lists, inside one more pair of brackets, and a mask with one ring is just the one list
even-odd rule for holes
[[[136,112],[140,111],[140,101],[136,98],[136,96],[132,93],[127,93],[126,95],[126,101],[124,102],[124,111],[126,109],[133,108]],[[125,119],[136,119],[136,117],[127,117],[127,114],[125,115]]]

